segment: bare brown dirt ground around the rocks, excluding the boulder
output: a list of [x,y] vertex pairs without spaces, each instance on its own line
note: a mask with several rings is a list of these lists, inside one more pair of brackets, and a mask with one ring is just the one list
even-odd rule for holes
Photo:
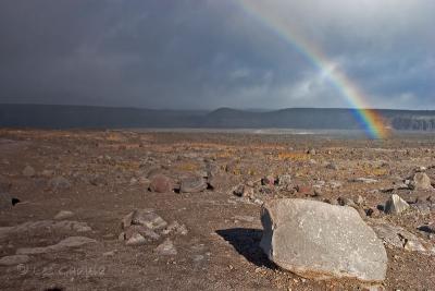
[[[434,145],[432,135],[366,141],[247,133],[1,130],[2,192],[20,203],[0,210],[5,233],[1,235],[0,229],[0,257],[70,237],[96,242],[0,266],[0,289],[365,290],[369,284],[353,280],[300,278],[269,262],[259,248],[261,204],[278,197],[336,204],[337,198],[357,201],[360,195],[363,202],[357,208],[368,222],[377,219],[402,227],[430,250],[435,244],[433,234],[418,228],[435,222],[431,208],[435,191],[407,189],[403,182],[417,171],[435,181]],[[26,166],[35,173],[24,171]],[[157,173],[170,178],[175,191],[149,191]],[[264,182],[268,175],[276,180],[289,175],[290,181],[270,184]],[[59,182],[60,177],[66,182]],[[177,193],[181,181],[191,177],[203,177],[208,187]],[[235,195],[240,186],[252,191]],[[391,193],[407,201],[410,210],[385,215],[382,206]],[[185,225],[187,233],[127,246],[119,239],[121,221],[134,209],[153,209],[167,223]],[[61,210],[73,214],[53,219]],[[22,230],[4,229],[48,220],[34,229],[28,225]],[[50,225],[63,220],[84,222],[91,230]],[[176,254],[159,252],[166,239]],[[386,250],[387,278],[376,288],[435,289],[433,253]]]

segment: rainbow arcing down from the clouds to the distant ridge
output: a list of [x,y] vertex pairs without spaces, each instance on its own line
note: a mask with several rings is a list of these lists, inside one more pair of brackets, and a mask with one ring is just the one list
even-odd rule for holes
[[[363,124],[365,132],[371,138],[385,138],[388,129],[380,113],[370,109],[365,102],[363,92],[352,83],[344,72],[339,70],[328,58],[308,39],[302,37],[282,17],[265,13],[252,0],[238,0],[240,8],[250,16],[259,20],[265,27],[273,31],[283,40],[289,44],[296,51],[308,59],[321,72],[327,72],[330,83],[346,98],[350,108],[355,109],[356,118]],[[260,2],[268,4],[266,1]],[[333,68],[333,70],[331,70]]]

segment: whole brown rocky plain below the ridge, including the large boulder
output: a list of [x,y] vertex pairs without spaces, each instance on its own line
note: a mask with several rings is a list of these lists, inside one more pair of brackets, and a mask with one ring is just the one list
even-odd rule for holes
[[0,130],[0,289],[434,290],[434,145]]

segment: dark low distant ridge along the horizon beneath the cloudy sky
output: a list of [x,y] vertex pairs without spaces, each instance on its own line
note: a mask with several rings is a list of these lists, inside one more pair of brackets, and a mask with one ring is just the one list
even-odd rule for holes
[[[435,131],[435,110],[377,111],[395,130]],[[364,124],[353,109],[287,108],[248,111],[156,110],[61,105],[0,105],[0,126],[40,129],[214,128],[214,129],[339,129]]]

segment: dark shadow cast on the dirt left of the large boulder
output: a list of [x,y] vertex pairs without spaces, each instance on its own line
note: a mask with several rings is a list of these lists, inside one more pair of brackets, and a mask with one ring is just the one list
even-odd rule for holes
[[231,243],[240,255],[246,257],[246,259],[256,266],[266,267],[270,269],[277,268],[277,266],[271,262],[260,248],[260,241],[263,234],[262,230],[235,228],[216,230],[216,233]]

